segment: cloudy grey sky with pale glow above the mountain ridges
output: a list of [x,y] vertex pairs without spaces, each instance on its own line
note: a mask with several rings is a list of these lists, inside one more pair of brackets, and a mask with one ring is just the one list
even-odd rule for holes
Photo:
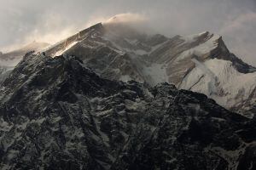
[[0,51],[55,43],[116,14],[142,16],[167,37],[221,35],[231,52],[256,66],[256,0],[0,0]]

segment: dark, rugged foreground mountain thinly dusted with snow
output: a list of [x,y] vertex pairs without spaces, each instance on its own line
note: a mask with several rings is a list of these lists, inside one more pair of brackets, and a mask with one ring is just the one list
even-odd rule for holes
[[0,89],[1,169],[256,168],[255,120],[204,94],[26,54]]

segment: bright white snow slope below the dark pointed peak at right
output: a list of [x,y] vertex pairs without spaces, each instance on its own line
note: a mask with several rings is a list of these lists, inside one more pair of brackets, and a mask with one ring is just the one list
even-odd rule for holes
[[[180,88],[207,94],[218,101],[218,104],[234,111],[249,110],[247,102],[252,106],[256,103],[255,98],[248,101],[248,98],[255,94],[256,72],[245,74],[236,71],[232,62],[224,59],[208,59],[201,65],[204,65],[205,69],[196,65],[183,79]],[[209,75],[206,69],[209,69],[214,77]]]

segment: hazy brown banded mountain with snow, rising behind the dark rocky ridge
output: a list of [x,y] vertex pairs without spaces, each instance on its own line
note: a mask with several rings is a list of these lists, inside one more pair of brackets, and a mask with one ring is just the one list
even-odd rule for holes
[[[150,86],[169,82],[180,89],[207,94],[218,104],[243,115],[253,116],[256,112],[256,69],[231,54],[222,37],[208,31],[168,38],[147,35],[129,26],[100,23],[45,53],[52,57],[75,55],[84,65],[111,80],[136,80]],[[236,81],[246,83],[234,85]]]

